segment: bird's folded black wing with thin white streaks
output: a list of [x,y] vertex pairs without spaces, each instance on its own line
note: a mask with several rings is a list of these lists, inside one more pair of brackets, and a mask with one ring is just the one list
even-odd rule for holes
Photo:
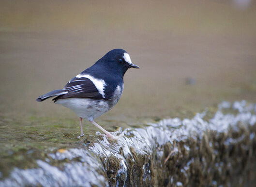
[[85,77],[71,79],[63,88],[67,91],[67,94],[55,97],[53,100],[79,97],[79,98],[93,98],[93,99],[105,99],[97,90],[93,82]]

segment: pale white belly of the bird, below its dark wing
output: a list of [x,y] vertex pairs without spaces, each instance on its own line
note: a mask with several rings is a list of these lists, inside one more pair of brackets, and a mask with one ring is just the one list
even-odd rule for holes
[[86,118],[90,121],[110,110],[105,100],[94,100],[90,98],[59,99],[55,103],[71,109],[78,117]]

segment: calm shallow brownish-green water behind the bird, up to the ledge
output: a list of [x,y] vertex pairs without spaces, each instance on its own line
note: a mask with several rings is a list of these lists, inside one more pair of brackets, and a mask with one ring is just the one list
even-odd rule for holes
[[[0,33],[0,155],[4,163],[0,168],[12,167],[16,162],[9,158],[9,153],[76,146],[75,137],[80,131],[76,115],[51,101],[38,103],[35,99],[62,88],[74,75],[114,47],[112,41],[105,41],[107,47],[98,46],[97,33],[87,34]],[[155,39],[161,44],[155,50],[149,43],[152,36],[150,32],[136,41],[132,40],[133,35],[125,38],[127,51],[141,69],[126,73],[119,103],[96,119],[106,130],[141,127],[165,118],[192,118],[205,107],[211,106],[209,110],[216,111],[222,100],[256,102],[256,46],[250,37],[195,34],[188,37],[162,33]],[[115,45],[119,43],[117,40],[124,40],[123,34],[108,37]],[[205,50],[206,46],[211,49]],[[217,56],[212,54],[214,49],[218,49]],[[238,49],[241,50],[238,52]],[[237,58],[227,55],[229,53],[236,53]],[[198,58],[191,59],[193,55]],[[196,84],[187,85],[188,76],[196,79]],[[97,128],[85,120],[83,127],[88,141],[97,139]]]

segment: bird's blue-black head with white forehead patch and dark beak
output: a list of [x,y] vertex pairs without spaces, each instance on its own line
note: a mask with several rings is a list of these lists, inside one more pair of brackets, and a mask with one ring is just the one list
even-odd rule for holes
[[112,71],[123,76],[129,68],[140,68],[132,63],[130,55],[123,49],[113,49],[106,53],[100,60]]

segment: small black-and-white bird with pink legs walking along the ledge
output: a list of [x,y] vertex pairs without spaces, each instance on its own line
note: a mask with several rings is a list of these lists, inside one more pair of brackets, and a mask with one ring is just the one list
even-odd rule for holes
[[132,63],[130,55],[123,49],[113,49],[106,53],[91,67],[68,81],[63,89],[54,90],[39,96],[36,101],[54,97],[55,104],[60,104],[74,111],[80,120],[86,119],[103,131],[110,139],[116,140],[123,136],[114,136],[101,127],[94,119],[112,109],[123,93],[123,76],[129,68],[140,68]]

